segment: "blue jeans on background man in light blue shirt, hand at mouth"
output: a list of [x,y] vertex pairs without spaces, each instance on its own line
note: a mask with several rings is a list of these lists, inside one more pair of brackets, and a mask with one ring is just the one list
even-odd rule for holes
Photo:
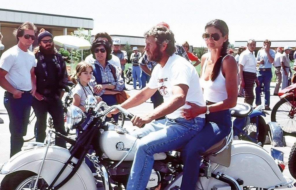
[[261,105],[261,84],[264,84],[264,94],[265,94],[265,105],[269,106],[270,104],[270,82],[272,78],[271,70],[268,71],[259,71],[257,74],[259,80],[259,86],[255,88],[256,92],[256,105]]

